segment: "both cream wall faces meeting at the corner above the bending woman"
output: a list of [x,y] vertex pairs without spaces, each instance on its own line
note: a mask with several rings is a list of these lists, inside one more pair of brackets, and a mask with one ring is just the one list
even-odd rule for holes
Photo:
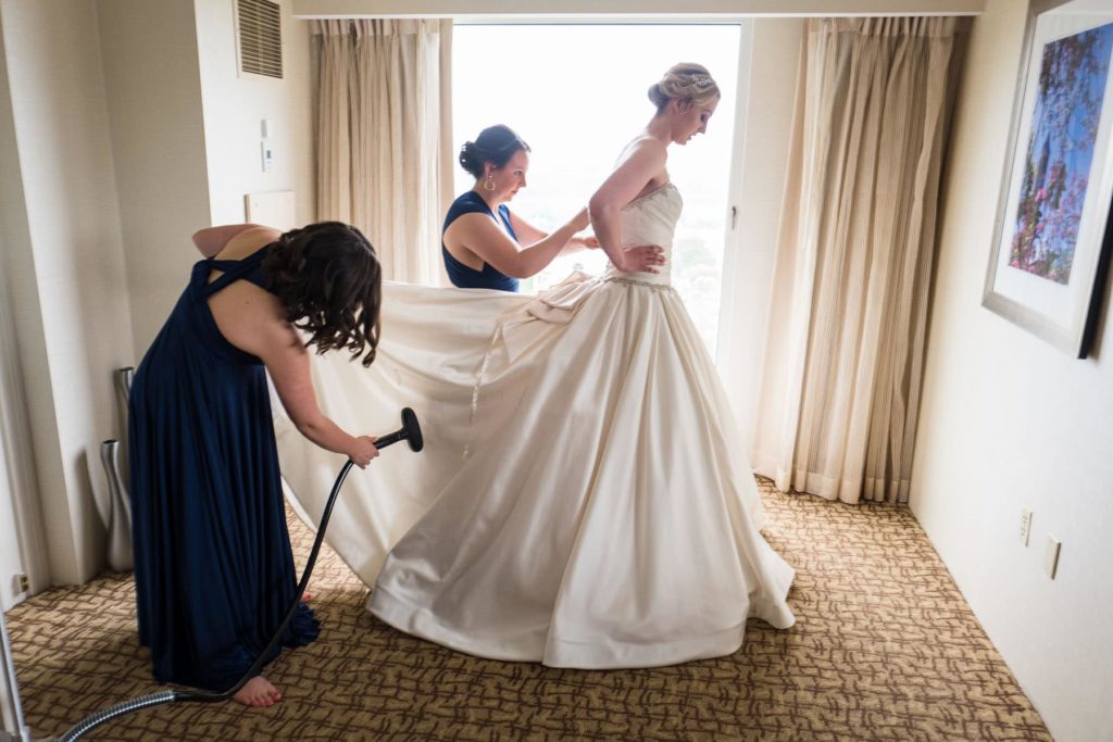
[[[199,254],[197,229],[244,220],[244,196],[293,190],[314,215],[308,23],[284,3],[283,80],[239,78],[233,0],[98,0],[135,362]],[[277,160],[263,172],[260,120]]]

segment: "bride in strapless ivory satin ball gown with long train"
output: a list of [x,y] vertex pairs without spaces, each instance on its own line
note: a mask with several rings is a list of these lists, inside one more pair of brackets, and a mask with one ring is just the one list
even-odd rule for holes
[[[795,621],[792,568],[758,532],[726,395],[669,281],[668,148],[706,131],[719,90],[678,65],[649,97],[656,115],[591,199],[604,275],[535,297],[395,285],[373,377],[317,359],[329,414],[412,404],[427,428],[426,453],[342,495],[329,531],[373,585],[371,612],[404,632],[499,660],[644,667],[730,654],[748,616]],[[660,271],[614,267],[637,245],[664,248]],[[337,462],[294,435],[279,452],[319,512]]]

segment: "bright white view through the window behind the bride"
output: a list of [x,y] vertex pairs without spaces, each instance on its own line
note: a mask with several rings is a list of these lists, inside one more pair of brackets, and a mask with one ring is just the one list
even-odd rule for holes
[[[738,26],[456,26],[453,29],[454,150],[505,123],[530,152],[528,186],[511,201],[520,217],[552,230],[585,206],[622,148],[649,122],[647,90],[677,62],[707,67],[722,100],[708,132],[669,148],[668,169],[684,200],[672,283],[715,353],[730,180]],[[460,167],[456,192],[474,179]],[[575,267],[600,274],[605,255],[558,258],[523,291],[555,284]]]

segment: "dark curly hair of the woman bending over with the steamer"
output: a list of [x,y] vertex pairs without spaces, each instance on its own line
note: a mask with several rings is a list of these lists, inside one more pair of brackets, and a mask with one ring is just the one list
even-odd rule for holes
[[375,359],[383,274],[375,248],[356,229],[321,221],[290,229],[270,244],[260,266],[286,319],[309,334],[317,353],[342,348],[363,365]]

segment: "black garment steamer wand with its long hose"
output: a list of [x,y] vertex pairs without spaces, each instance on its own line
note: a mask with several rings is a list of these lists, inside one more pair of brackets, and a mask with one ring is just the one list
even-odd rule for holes
[[[402,410],[402,427],[394,433],[378,438],[375,442],[375,447],[382,451],[386,446],[393,445],[398,441],[405,441],[410,444],[410,449],[414,452],[421,451],[425,445],[425,441],[421,434],[421,426],[417,424],[417,415],[415,415],[414,410],[410,407],[405,407]],[[347,477],[347,473],[351,468],[352,461],[348,459],[348,462],[344,464],[344,467],[341,468],[341,473],[336,475],[336,482],[333,484],[333,491],[329,493],[328,502],[325,503],[324,513],[321,515],[321,525],[317,528],[317,538],[313,542],[313,550],[309,552],[309,561],[305,564],[305,571],[302,573],[302,581],[297,585],[297,594],[294,595],[294,604],[290,605],[289,611],[286,612],[286,617],[283,619],[282,624],[279,624],[277,631],[275,631],[274,636],[270,639],[270,643],[267,644],[266,649],[259,653],[255,663],[246,673],[244,673],[244,676],[239,679],[238,683],[223,693],[208,691],[161,691],[159,693],[151,693],[150,695],[144,695],[138,699],[125,701],[116,704],[115,706],[105,709],[104,711],[99,711],[73,725],[68,732],[62,734],[60,738],[61,742],[78,740],[86,732],[100,726],[117,716],[122,716],[126,713],[138,711],[139,709],[158,706],[164,703],[187,701],[195,701],[198,703],[218,703],[220,701],[227,701],[238,693],[239,689],[247,684],[247,681],[255,677],[264,665],[264,657],[266,657],[270,650],[278,644],[283,632],[286,631],[286,626],[289,625],[290,620],[297,612],[297,606],[302,602],[302,594],[305,593],[305,587],[309,584],[309,575],[313,573],[313,565],[317,561],[317,552],[321,551],[321,543],[324,541],[325,528],[328,527],[328,516],[333,512],[333,504],[336,502],[336,495],[339,494],[341,485],[344,484],[344,478]]]

